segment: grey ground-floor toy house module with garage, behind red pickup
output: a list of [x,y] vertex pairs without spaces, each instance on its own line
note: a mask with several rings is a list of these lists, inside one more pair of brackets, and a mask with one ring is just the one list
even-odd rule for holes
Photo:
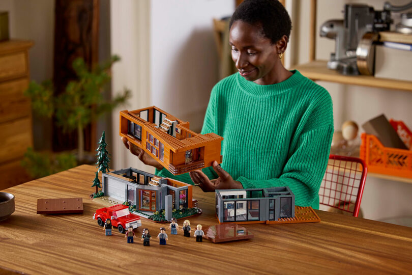
[[[157,223],[201,214],[192,198],[192,188],[193,185],[134,168],[102,174],[104,196],[125,202],[130,212]],[[171,215],[167,219],[166,213]]]

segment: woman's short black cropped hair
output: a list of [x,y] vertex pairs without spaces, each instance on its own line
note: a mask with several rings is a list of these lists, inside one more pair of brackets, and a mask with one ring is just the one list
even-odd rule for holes
[[262,34],[272,44],[282,36],[289,40],[292,22],[285,7],[278,0],[245,0],[236,8],[229,22],[229,30],[234,21],[241,20],[251,25],[260,24]]

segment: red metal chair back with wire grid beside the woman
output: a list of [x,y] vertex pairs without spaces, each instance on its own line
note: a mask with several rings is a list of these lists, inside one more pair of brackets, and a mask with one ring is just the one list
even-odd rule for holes
[[[319,189],[319,203],[359,214],[368,169],[357,157],[330,155],[328,167]],[[355,204],[354,209],[349,209]]]

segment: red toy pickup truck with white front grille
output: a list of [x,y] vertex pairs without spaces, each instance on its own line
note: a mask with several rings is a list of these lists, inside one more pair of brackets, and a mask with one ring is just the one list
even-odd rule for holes
[[123,204],[117,204],[110,207],[103,207],[96,210],[93,219],[97,219],[99,226],[104,226],[106,219],[110,218],[111,224],[117,227],[120,233],[125,233],[129,226],[133,229],[141,226],[140,217],[129,212],[129,207]]

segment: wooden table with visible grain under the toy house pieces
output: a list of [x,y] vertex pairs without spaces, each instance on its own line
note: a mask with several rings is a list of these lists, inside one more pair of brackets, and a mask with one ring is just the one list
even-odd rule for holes
[[[92,219],[100,204],[89,199],[96,168],[80,166],[6,191],[16,212],[0,223],[0,273],[410,273],[412,229],[368,219],[316,211],[320,223],[246,225],[254,238],[214,244],[194,237],[156,239],[161,224],[145,219],[151,246],[128,244],[113,230],[105,236]],[[36,214],[39,198],[82,197],[83,214]],[[194,189],[203,214],[190,219],[215,225],[214,193]],[[179,223],[182,225],[182,222]],[[167,226],[167,225],[166,225]],[[141,235],[142,228],[136,230]],[[167,233],[170,231],[167,230]]]

